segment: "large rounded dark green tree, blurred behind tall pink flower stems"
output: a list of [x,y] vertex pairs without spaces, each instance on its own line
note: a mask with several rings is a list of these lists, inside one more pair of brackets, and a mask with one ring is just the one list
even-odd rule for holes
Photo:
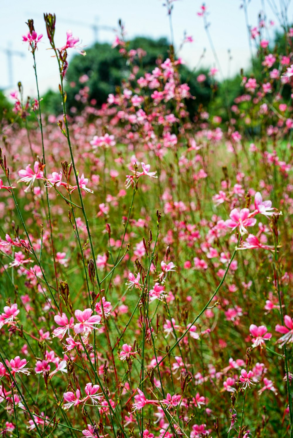
[[[166,38],[153,40],[145,37],[137,37],[129,42],[129,49],[141,48],[146,52],[146,56],[141,60],[136,60],[139,67],[137,77],[143,76],[145,72],[151,72],[157,66],[158,57],[165,60],[170,57],[170,46]],[[200,104],[207,106],[211,99],[211,81],[207,76],[207,71],[190,71],[186,66],[180,66],[182,83],[188,83],[190,92],[196,99],[190,99],[187,108],[191,117],[197,111]],[[86,50],[86,56],[75,55],[69,63],[66,73],[68,109],[74,107],[78,112],[84,107],[80,97],[76,100],[79,91],[85,86],[89,88],[88,101],[94,99],[95,106],[100,107],[107,102],[110,93],[115,93],[117,86],[128,78],[130,66],[127,60],[121,56],[118,48],[112,48],[110,44],[96,43]],[[199,83],[197,76],[200,73],[206,74],[207,79]],[[81,83],[80,78],[88,76],[86,83]],[[61,113],[61,99],[59,93],[49,91],[43,98],[43,107],[48,113]]]

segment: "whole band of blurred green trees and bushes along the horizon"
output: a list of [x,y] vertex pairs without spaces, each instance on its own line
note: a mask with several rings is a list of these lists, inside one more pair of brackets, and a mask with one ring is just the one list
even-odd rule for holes
[[[286,54],[286,35],[282,32],[276,32],[275,39],[271,44],[271,48],[275,48],[280,55]],[[138,60],[134,60],[137,65],[138,72],[136,78],[143,76],[143,72],[152,72],[157,66],[157,58],[165,60],[170,57],[170,46],[166,38],[157,40],[137,37],[129,41],[127,49],[142,48],[146,52],[146,56]],[[262,50],[262,49],[261,49]],[[242,76],[254,77],[257,82],[261,82],[264,68],[262,61],[265,54],[270,53],[267,48],[265,53],[256,53],[251,60],[250,67],[247,71],[239,71],[239,74],[232,78],[225,78],[222,81],[215,81],[208,76],[208,69],[199,68],[190,70],[186,65],[180,66],[180,75],[182,83],[187,83],[190,87],[190,93],[195,99],[186,101],[187,109],[190,117],[195,117],[199,110],[203,108],[207,110],[211,116],[217,115],[222,117],[222,123],[229,119],[229,109],[234,103],[234,99],[243,94],[241,85]],[[274,52],[275,53],[275,52]],[[130,73],[133,67],[129,65],[129,61],[121,56],[118,48],[112,48],[108,43],[95,43],[92,47],[86,50],[86,56],[81,57],[76,54],[72,57],[68,71],[66,73],[66,93],[67,105],[71,115],[80,113],[89,102],[92,106],[99,108],[104,102],[107,102],[107,97],[110,93],[115,94],[116,88],[121,85]],[[205,74],[204,82],[198,82],[199,74]],[[88,76],[86,82],[81,82],[82,76]],[[82,99],[82,90],[88,87],[86,91],[86,101]],[[290,87],[284,86],[282,95],[288,98]],[[79,99],[77,100],[76,99]],[[0,118],[5,117],[8,120],[13,119],[11,105],[0,91]],[[59,92],[49,90],[43,96],[42,110],[47,114],[60,115],[62,113],[61,98]],[[231,113],[230,113],[231,116]]]

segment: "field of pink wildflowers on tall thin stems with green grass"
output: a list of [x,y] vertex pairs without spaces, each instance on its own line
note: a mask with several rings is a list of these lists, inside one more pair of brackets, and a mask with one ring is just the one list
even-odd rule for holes
[[191,114],[173,46],[142,73],[121,24],[127,78],[75,112],[86,53],[44,19],[60,113],[19,83],[0,126],[0,435],[292,438],[293,28],[260,16],[239,95]]

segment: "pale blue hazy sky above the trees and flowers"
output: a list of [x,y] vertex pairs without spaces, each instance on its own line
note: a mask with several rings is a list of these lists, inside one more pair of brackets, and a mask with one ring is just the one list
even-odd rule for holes
[[[288,0],[285,0],[287,2]],[[153,38],[161,36],[170,37],[170,28],[166,9],[163,7],[164,0],[50,0],[38,2],[24,2],[14,0],[2,2],[0,48],[10,48],[21,51],[25,57],[13,57],[14,83],[21,81],[24,85],[25,95],[34,95],[35,82],[32,69],[32,55],[27,50],[27,44],[21,42],[21,35],[27,32],[25,21],[33,18],[36,32],[43,33],[43,43],[39,44],[36,54],[37,70],[41,93],[46,89],[56,89],[58,86],[57,61],[51,57],[51,51],[46,50],[49,46],[43,12],[55,13],[56,20],[56,45],[62,46],[66,41],[66,31],[71,29],[74,36],[82,40],[82,45],[89,46],[94,41],[93,29],[90,27],[98,22],[100,25],[108,25],[117,28],[118,19],[125,23],[127,37],[146,35]],[[210,33],[218,53],[222,72],[228,74],[228,53],[231,50],[231,74],[236,73],[241,67],[246,67],[249,58],[249,45],[247,28],[243,9],[240,8],[241,0],[207,0],[208,21],[211,23]],[[270,4],[273,2],[270,1]],[[268,20],[274,20],[276,27],[277,18],[274,16],[267,0],[251,0],[248,6],[249,24],[257,25],[257,16],[265,9]],[[276,1],[279,5],[279,2]],[[202,18],[197,16],[200,10],[200,0],[178,0],[174,3],[172,14],[175,47],[179,47],[184,31],[192,35],[194,42],[186,44],[182,49],[181,56],[189,67],[197,65],[203,49],[206,54],[202,65],[215,65],[214,57],[207,40]],[[98,18],[98,21],[96,21]],[[289,22],[293,21],[293,6],[288,9]],[[65,20],[73,21],[68,23]],[[88,26],[87,26],[88,25]],[[270,31],[272,38],[274,31]],[[114,32],[100,30],[98,35],[100,42],[112,42]],[[85,47],[86,49],[86,47]],[[72,56],[74,51],[70,53]],[[70,59],[70,58],[69,58]],[[70,61],[69,61],[70,62]],[[9,85],[7,72],[7,56],[0,51],[0,87]]]

